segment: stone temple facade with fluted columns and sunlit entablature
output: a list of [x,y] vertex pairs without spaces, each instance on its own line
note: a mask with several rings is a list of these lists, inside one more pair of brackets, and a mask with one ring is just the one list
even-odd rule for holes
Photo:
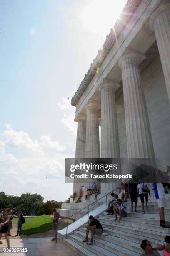
[[[125,10],[130,15],[117,21],[72,98],[78,122],[76,157],[152,158],[157,168],[166,170],[170,1],[129,0]],[[75,184],[74,190],[79,189]],[[101,184],[102,193],[112,189],[113,184]]]

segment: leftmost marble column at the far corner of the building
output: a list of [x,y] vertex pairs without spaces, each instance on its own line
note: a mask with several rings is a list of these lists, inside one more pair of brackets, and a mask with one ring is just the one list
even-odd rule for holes
[[[75,158],[85,158],[86,115],[77,115],[75,121],[77,122]],[[73,193],[76,192],[77,196],[80,194],[82,185],[84,184],[74,183],[73,185]]]

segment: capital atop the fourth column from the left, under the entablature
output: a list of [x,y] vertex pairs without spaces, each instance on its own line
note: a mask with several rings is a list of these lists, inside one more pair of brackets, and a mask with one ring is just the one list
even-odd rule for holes
[[140,64],[145,59],[145,54],[142,54],[138,51],[134,51],[133,49],[126,48],[125,53],[118,60],[118,65],[122,68],[122,62],[126,59],[132,59],[138,64]]

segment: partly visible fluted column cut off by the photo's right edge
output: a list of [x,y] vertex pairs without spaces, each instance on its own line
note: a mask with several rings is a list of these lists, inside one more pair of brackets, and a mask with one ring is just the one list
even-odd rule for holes
[[150,28],[155,36],[170,100],[170,3],[160,5],[150,16]]

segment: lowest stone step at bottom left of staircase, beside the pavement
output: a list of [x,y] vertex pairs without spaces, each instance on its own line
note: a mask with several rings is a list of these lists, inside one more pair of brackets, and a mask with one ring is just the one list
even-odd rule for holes
[[89,250],[87,250],[83,246],[80,246],[79,244],[77,244],[76,242],[72,241],[69,238],[63,239],[62,241],[81,256],[96,256],[95,253],[90,252]]

